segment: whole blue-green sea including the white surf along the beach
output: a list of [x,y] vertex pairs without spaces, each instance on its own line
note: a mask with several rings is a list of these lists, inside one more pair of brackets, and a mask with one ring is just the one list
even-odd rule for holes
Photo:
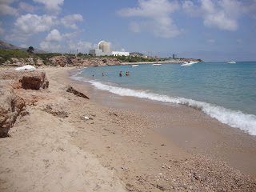
[[256,135],[256,62],[98,66],[79,70],[73,78],[121,96],[190,106]]

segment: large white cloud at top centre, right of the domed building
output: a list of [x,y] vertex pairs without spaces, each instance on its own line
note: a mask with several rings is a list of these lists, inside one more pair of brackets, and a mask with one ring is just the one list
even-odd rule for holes
[[168,0],[138,0],[138,7],[118,10],[123,17],[138,17],[140,22],[130,22],[130,30],[139,33],[150,31],[156,37],[173,38],[181,33],[170,14],[178,10],[178,2]]

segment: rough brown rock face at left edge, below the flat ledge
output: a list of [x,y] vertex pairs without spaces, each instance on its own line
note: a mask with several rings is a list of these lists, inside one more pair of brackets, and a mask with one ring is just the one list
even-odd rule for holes
[[25,110],[25,102],[14,94],[11,86],[0,86],[0,137],[7,137],[18,115]]

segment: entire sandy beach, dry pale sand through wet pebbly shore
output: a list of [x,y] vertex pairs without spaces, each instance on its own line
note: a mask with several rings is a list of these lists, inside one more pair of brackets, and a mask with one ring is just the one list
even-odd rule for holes
[[49,88],[18,90],[34,102],[0,139],[1,191],[256,189],[255,137],[186,106],[94,90],[69,78],[74,68],[38,70]]

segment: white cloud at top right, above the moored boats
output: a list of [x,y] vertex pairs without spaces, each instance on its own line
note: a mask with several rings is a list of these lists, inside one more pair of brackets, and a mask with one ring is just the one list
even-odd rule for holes
[[203,18],[205,26],[220,30],[238,30],[238,18],[246,10],[237,0],[198,0],[199,6],[187,0],[183,10],[191,16]]

